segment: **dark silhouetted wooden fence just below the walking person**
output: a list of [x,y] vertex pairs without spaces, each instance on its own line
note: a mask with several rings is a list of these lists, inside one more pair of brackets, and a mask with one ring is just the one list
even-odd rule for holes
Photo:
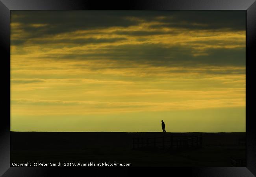
[[198,136],[163,136],[154,138],[133,138],[133,149],[143,148],[189,149],[202,147],[202,135]]

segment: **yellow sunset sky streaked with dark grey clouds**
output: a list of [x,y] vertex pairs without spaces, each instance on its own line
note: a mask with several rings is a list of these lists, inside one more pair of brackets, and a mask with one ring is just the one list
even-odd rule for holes
[[245,132],[245,11],[11,11],[11,131]]

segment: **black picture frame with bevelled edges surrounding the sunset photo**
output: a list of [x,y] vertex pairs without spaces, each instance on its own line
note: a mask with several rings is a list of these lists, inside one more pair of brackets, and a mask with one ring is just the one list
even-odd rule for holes
[[[0,134],[0,175],[15,176],[75,176],[74,173],[87,174],[88,168],[45,168],[10,167],[10,87],[8,73],[10,73],[10,11],[11,10],[245,10],[246,11],[246,138],[247,138],[247,166],[228,168],[165,168],[170,175],[198,177],[250,177],[256,175],[256,129],[253,115],[253,83],[255,76],[253,60],[256,58],[256,2],[255,0],[123,0],[119,2],[97,0],[0,0],[0,48],[1,48],[1,134]],[[8,71],[9,70],[9,71]],[[134,168],[90,168],[94,175],[101,171],[119,172],[119,176],[135,175],[130,173]],[[143,169],[136,169],[143,170]],[[161,169],[163,170],[163,169]],[[153,175],[161,175],[162,171],[155,168],[143,170]],[[63,175],[60,175],[62,173]],[[105,173],[106,175],[106,173]],[[108,175],[107,175],[108,176]]]

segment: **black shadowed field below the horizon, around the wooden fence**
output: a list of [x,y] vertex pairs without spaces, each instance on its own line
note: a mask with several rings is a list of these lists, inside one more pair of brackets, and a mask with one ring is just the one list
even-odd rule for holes
[[[133,149],[133,138],[202,135],[202,147]],[[11,132],[11,160],[26,162],[131,163],[132,166],[246,166],[245,133]],[[234,164],[234,159],[235,163]],[[232,163],[233,162],[233,163]]]

